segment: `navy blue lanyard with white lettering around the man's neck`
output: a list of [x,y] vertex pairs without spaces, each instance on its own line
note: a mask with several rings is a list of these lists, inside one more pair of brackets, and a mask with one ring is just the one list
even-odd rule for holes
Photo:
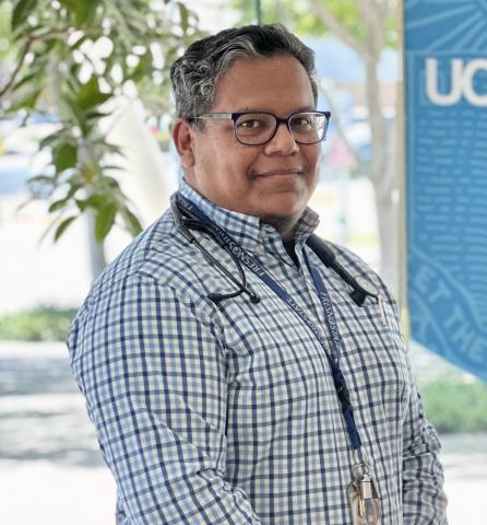
[[295,312],[295,314],[298,315],[299,318],[304,320],[309,327],[309,329],[314,334],[314,336],[323,347],[324,353],[330,363],[333,375],[333,384],[342,407],[342,412],[346,423],[352,448],[355,451],[359,450],[361,447],[361,440],[358,433],[357,425],[355,423],[348,388],[346,386],[345,377],[343,376],[338,362],[340,355],[343,353],[342,337],[336,325],[336,318],[333,311],[332,302],[330,300],[330,295],[326,291],[326,288],[324,287],[323,279],[321,278],[317,268],[308,261],[308,258],[306,258],[314,282],[314,287],[318,291],[318,295],[323,306],[326,326],[332,336],[331,353],[328,350],[328,341],[324,339],[321,331],[314,326],[314,323],[308,317],[306,312],[294,301],[294,299],[287,293],[287,291],[284,290],[284,288],[282,288],[281,284],[278,284],[268,273],[268,271],[252,255],[246,252],[224,229],[215,224],[202,210],[200,210],[200,208],[198,208],[197,205],[194,205],[194,202],[185,198],[180,192],[176,194],[176,202],[189,214],[197,217],[201,222],[206,224],[206,226],[209,226],[215,234],[215,238],[218,240],[218,243],[229,249],[242,265],[249,268],[249,270],[256,273],[265,284],[268,284],[268,287],[270,287],[285,303],[287,303],[287,305]]

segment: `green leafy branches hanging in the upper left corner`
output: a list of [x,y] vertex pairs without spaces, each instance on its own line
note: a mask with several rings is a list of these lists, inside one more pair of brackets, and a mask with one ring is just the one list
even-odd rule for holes
[[34,198],[57,213],[55,240],[84,212],[95,215],[102,242],[117,219],[133,235],[141,225],[119,184],[117,155],[100,121],[119,97],[140,96],[167,112],[168,68],[191,38],[197,18],[171,0],[15,0],[11,38],[16,52],[0,86],[4,112],[48,110],[57,129],[40,148],[51,152],[46,173],[29,180]]

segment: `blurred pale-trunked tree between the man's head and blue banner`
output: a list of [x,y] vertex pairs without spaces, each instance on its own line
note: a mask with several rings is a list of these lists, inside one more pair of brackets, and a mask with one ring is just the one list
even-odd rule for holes
[[[243,21],[256,21],[252,5],[236,0]],[[372,184],[378,211],[381,273],[394,292],[399,290],[399,207],[393,194],[400,187],[394,165],[394,133],[387,129],[380,101],[378,65],[385,47],[397,45],[396,0],[262,0],[263,22],[282,22],[300,36],[331,32],[364,61],[366,101],[371,135],[371,159],[365,162],[344,138],[361,173]],[[333,59],[331,57],[331,59]],[[321,86],[324,91],[324,88]],[[331,105],[333,101],[324,92]],[[341,129],[340,116],[333,118]]]

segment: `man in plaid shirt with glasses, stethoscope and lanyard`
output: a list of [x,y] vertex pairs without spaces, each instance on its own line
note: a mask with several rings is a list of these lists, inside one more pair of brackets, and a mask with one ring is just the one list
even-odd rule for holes
[[312,51],[227,30],[171,80],[185,179],[69,336],[119,523],[446,524],[395,303],[311,237],[330,117]]

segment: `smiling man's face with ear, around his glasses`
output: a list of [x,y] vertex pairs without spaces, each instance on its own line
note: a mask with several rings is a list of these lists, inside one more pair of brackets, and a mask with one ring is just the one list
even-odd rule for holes
[[[237,60],[218,82],[211,113],[270,112],[287,117],[314,109],[304,67],[290,55]],[[264,222],[297,220],[318,179],[320,144],[297,144],[285,125],[263,145],[239,143],[233,121],[189,128],[187,183],[212,202]]]

